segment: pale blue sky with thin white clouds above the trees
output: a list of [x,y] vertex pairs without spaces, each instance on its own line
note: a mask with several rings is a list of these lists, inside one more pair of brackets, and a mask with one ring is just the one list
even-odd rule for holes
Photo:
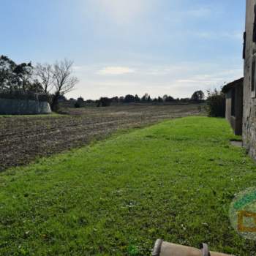
[[245,1],[0,0],[0,54],[74,61],[68,97],[190,97],[243,74]]

